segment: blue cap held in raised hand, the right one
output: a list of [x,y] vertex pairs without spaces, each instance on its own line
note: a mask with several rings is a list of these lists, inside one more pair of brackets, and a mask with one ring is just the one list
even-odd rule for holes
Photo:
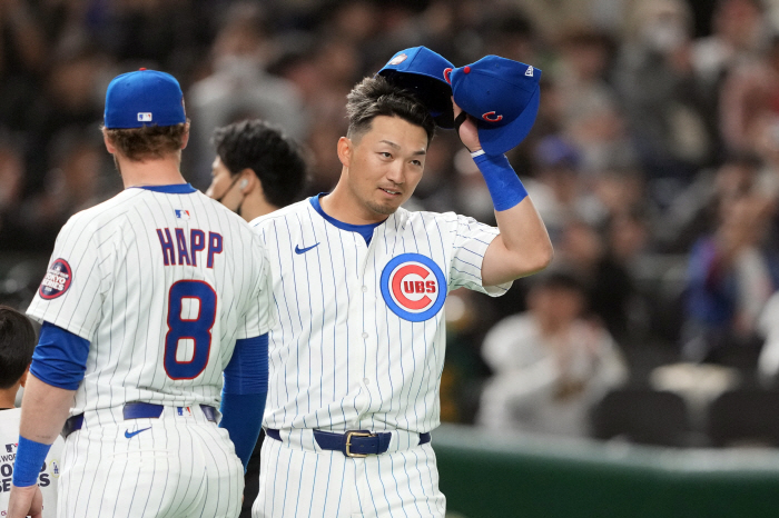
[[485,56],[452,70],[454,102],[476,119],[486,155],[503,155],[527,136],[539,112],[541,70]]

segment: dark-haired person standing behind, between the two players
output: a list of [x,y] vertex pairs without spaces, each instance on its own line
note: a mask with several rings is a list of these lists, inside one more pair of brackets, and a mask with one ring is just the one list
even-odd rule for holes
[[[206,195],[246,221],[295,201],[305,186],[306,162],[299,146],[280,129],[253,119],[217,128],[217,156]],[[252,514],[257,497],[259,448],[255,446],[244,477],[240,517]]]

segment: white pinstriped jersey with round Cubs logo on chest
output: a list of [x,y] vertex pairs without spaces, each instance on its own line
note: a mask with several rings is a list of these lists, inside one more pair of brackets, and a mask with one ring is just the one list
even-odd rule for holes
[[460,287],[491,296],[509,289],[482,287],[482,259],[499,230],[453,212],[401,208],[366,246],[359,233],[325,220],[310,200],[250,226],[269,253],[278,311],[264,425],[437,427],[444,299]]

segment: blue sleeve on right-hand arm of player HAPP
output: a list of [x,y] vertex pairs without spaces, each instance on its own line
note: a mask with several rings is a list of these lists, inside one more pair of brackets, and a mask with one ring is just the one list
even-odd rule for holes
[[267,394],[268,335],[236,340],[225,368],[219,427],[229,434],[244,471],[259,437]]

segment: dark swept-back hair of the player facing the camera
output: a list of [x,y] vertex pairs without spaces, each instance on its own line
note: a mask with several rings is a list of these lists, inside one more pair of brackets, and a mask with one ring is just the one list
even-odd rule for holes
[[365,78],[346,97],[349,129],[346,136],[358,138],[371,129],[378,116],[400,117],[416,124],[427,133],[427,143],[435,136],[435,122],[430,110],[414,94],[391,84],[384,77]]

